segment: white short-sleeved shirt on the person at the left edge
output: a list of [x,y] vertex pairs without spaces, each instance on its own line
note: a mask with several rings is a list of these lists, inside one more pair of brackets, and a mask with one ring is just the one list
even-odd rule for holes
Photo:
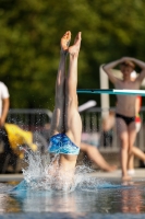
[[10,96],[7,85],[0,81],[0,116],[2,114],[2,100]]

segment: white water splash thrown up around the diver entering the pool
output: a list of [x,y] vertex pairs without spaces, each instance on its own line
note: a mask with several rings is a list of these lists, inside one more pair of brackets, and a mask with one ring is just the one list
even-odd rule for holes
[[49,162],[48,155],[41,155],[39,151],[26,151],[25,163],[27,163],[27,166],[22,170],[24,181],[15,186],[13,192],[49,191],[70,193],[74,189],[97,192],[99,188],[117,187],[104,180],[92,176],[90,173],[94,170],[86,165],[76,166],[75,172],[62,172],[59,165],[59,154],[56,154],[51,162]]

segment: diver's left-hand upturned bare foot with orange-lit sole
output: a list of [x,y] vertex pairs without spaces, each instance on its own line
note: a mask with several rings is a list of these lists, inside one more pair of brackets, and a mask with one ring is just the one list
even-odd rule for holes
[[60,41],[61,53],[67,54],[71,42],[71,32],[67,31]]

